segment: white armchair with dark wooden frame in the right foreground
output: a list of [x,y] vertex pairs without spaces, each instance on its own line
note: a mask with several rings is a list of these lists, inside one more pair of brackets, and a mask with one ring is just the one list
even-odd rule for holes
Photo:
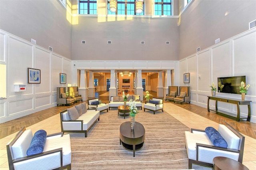
[[191,129],[185,131],[185,143],[188,154],[188,168],[192,163],[213,166],[213,158],[224,156],[242,163],[244,152],[244,136],[226,123],[219,125],[218,132],[226,140],[227,148],[214,146],[205,130]]

